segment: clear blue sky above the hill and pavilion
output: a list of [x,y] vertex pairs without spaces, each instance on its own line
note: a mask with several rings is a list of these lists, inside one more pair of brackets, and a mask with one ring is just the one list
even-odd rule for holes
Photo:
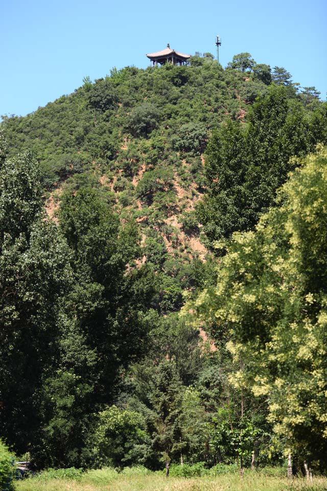
[[284,66],[301,86],[326,99],[325,0],[3,0],[0,16],[0,114],[26,115],[109,73],[148,66],[164,49],[215,54],[220,62],[249,52],[257,63]]

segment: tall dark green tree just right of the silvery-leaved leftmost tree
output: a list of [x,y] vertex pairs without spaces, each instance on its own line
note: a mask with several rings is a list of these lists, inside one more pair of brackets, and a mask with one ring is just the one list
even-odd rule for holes
[[67,308],[97,354],[94,402],[109,403],[119,370],[146,349],[144,323],[155,283],[147,265],[136,267],[141,254],[136,225],[120,227],[94,191],[63,195],[59,223],[76,275]]

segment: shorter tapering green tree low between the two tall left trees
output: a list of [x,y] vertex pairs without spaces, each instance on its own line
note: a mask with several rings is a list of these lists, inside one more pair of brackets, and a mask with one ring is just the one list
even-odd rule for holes
[[42,419],[31,451],[38,466],[92,465],[97,355],[87,344],[77,319],[67,315],[64,308],[58,327],[56,356],[43,377]]

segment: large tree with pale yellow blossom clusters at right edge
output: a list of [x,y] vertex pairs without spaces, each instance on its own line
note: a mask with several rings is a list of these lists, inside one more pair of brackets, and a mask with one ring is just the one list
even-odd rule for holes
[[326,468],[327,152],[293,165],[278,207],[233,235],[197,307],[228,326],[233,384],[267,396],[286,447]]

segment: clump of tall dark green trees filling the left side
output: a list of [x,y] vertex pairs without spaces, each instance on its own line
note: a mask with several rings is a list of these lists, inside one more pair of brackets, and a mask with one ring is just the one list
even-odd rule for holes
[[76,465],[92,412],[145,349],[153,281],[135,267],[135,226],[121,227],[94,192],[63,196],[56,227],[29,154],[1,173],[2,434],[39,463]]

